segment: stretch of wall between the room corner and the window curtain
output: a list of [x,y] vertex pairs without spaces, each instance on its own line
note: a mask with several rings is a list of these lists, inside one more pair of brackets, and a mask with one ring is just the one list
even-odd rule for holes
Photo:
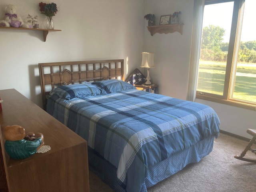
[[155,68],[150,69],[150,77],[151,82],[158,84],[160,94],[184,100],[188,88],[193,3],[193,0],[146,0],[146,14],[155,14],[157,25],[161,15],[181,11],[182,35],[174,32],[151,36],[145,22],[144,51],[155,52]]

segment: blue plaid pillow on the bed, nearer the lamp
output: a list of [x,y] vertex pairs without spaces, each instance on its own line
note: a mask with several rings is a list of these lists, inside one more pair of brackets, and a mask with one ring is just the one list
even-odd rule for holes
[[92,82],[92,84],[100,86],[107,93],[114,93],[123,90],[136,89],[132,84],[118,79],[108,79],[103,81]]

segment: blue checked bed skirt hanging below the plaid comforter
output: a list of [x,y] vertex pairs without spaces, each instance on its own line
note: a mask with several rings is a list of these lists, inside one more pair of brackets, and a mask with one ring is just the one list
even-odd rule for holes
[[[210,136],[190,146],[181,152],[172,154],[166,160],[148,168],[148,175],[140,192],[147,192],[147,188],[168,178],[182,170],[190,163],[199,162],[202,158],[212,152],[214,136]],[[108,184],[115,192],[125,192],[125,186],[120,186],[116,176],[116,168],[104,158],[95,154],[94,150],[88,148],[89,170],[96,174],[103,182]]]

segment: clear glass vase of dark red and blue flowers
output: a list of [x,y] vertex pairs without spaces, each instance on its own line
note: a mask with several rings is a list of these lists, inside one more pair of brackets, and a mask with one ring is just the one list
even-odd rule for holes
[[57,13],[57,5],[55,3],[39,3],[41,14],[46,16],[46,28],[54,29],[54,20],[52,19],[53,16]]

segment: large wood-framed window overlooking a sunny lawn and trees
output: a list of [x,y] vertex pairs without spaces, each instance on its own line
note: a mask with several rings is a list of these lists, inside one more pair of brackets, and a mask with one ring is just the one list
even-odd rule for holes
[[205,2],[196,98],[255,110],[256,0]]

